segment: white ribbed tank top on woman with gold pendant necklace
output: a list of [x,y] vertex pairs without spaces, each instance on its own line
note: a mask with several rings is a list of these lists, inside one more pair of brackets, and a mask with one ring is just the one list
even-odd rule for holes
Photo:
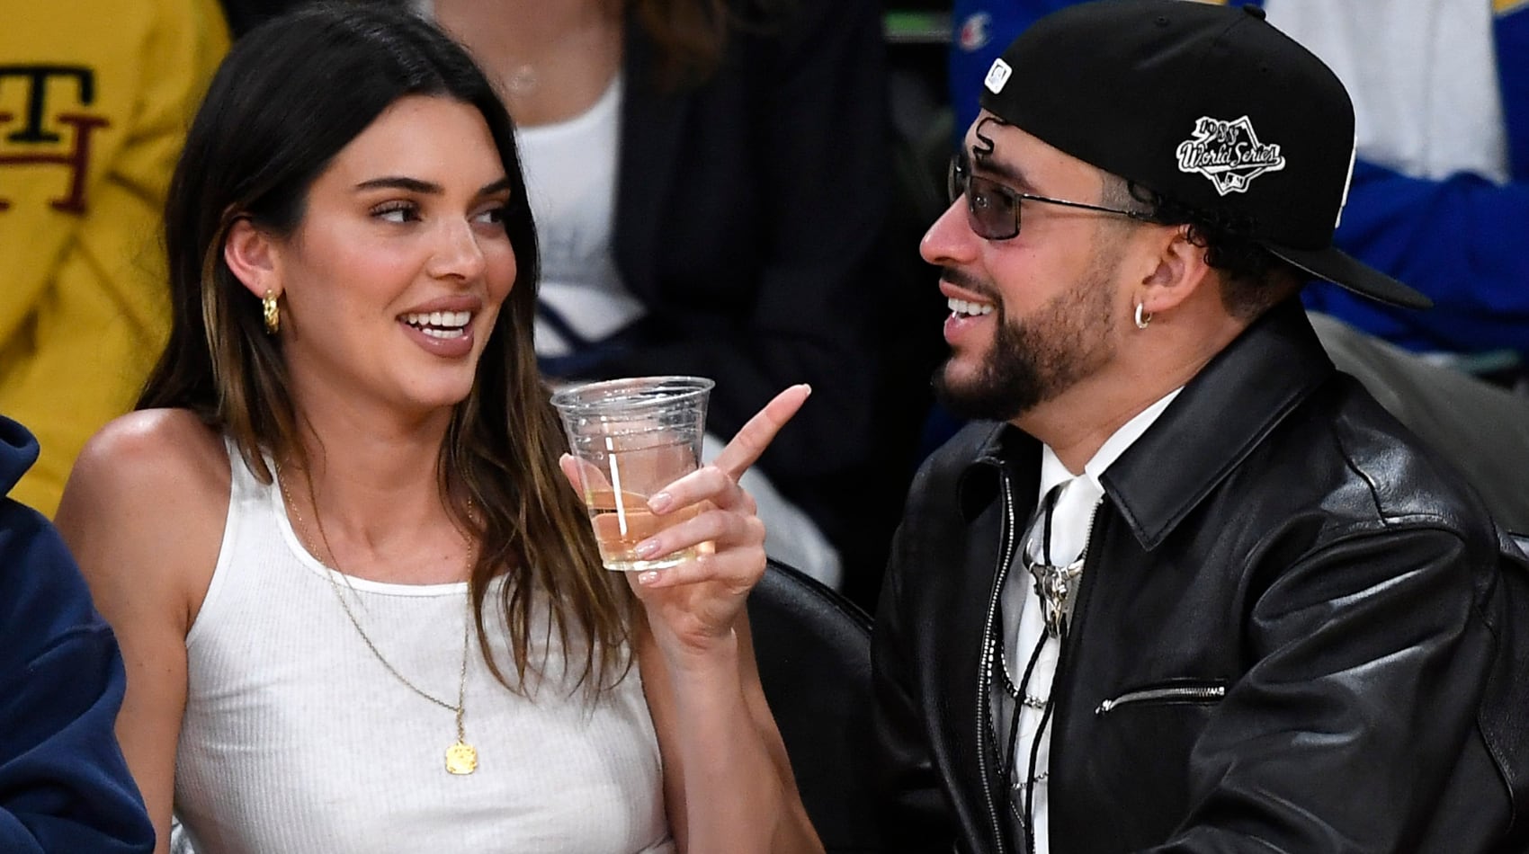
[[[232,448],[229,461],[223,544],[187,634],[176,753],[176,813],[197,854],[673,852],[636,666],[590,704],[550,639],[547,678],[528,700],[494,680],[474,637],[465,726],[479,768],[446,773],[454,713],[384,669],[278,487]],[[335,579],[387,660],[454,703],[466,584]],[[489,628],[509,666],[503,620]],[[569,657],[576,675],[583,655]]]

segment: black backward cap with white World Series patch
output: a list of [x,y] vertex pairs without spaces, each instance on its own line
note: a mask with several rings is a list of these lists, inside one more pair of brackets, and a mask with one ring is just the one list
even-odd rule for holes
[[1393,306],[1433,306],[1333,247],[1353,173],[1353,104],[1263,9],[1067,6],[992,63],[980,102],[1079,160],[1252,222],[1257,243],[1316,278]]

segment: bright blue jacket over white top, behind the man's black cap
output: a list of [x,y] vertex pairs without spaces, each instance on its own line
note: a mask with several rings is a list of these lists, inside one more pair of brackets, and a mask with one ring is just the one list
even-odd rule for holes
[[[956,133],[977,116],[992,60],[1037,18],[1076,0],[954,0]],[[1229,0],[1232,6],[1258,0]],[[1494,37],[1511,182],[1414,179],[1359,159],[1335,243],[1417,287],[1434,309],[1393,309],[1316,283],[1306,304],[1410,350],[1512,350],[1529,361],[1529,3],[1497,0]]]

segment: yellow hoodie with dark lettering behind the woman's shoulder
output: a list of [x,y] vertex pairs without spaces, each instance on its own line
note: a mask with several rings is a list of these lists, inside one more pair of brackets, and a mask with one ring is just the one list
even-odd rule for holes
[[228,50],[216,0],[8,3],[0,26],[0,412],[52,515],[84,442],[131,408],[168,335],[161,215]]

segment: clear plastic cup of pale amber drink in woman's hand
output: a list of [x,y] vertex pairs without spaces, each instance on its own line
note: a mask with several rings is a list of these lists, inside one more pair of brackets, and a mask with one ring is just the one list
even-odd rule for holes
[[552,396],[578,461],[578,487],[605,568],[662,570],[696,556],[694,548],[685,548],[644,559],[633,548],[697,513],[687,507],[659,516],[648,509],[648,498],[700,464],[711,387],[705,377],[631,377]]

